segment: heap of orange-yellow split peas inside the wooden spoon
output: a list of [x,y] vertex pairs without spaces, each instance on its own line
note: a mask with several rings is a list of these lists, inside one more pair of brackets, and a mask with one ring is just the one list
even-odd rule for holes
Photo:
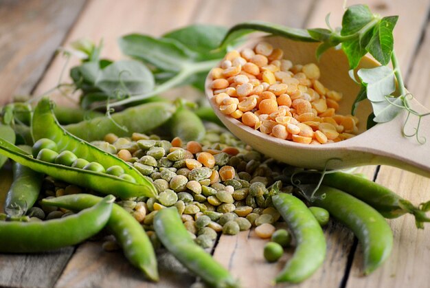
[[293,65],[283,56],[267,42],[228,52],[211,71],[218,109],[262,133],[302,144],[357,135],[358,118],[336,113],[342,94],[319,82],[319,67]]

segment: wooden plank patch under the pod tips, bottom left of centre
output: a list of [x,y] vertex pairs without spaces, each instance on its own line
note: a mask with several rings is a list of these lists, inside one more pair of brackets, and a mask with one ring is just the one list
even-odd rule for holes
[[189,287],[194,276],[166,250],[157,251],[160,283],[149,283],[121,251],[106,252],[100,242],[76,250],[56,287]]

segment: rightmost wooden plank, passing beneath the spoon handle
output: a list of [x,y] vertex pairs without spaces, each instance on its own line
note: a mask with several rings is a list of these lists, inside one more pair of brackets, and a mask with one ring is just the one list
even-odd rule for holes
[[[424,14],[424,12],[423,12]],[[427,31],[424,41],[418,49],[416,58],[411,68],[407,84],[411,92],[422,104],[430,108],[428,93],[430,91],[430,23],[427,24]],[[400,129],[400,127],[399,127]],[[430,135],[425,135],[427,140]],[[427,142],[425,145],[428,145]],[[418,153],[418,151],[417,151]],[[429,157],[429,155],[423,155]],[[429,157],[430,161],[430,157]],[[378,184],[382,184],[394,190],[400,196],[409,199],[412,203],[418,204],[430,199],[430,179],[414,175],[398,168],[382,166],[376,179]],[[425,225],[425,230],[418,230],[415,227],[414,217],[407,215],[400,219],[389,221],[389,225],[394,232],[394,247],[392,256],[387,263],[374,274],[365,278],[361,277],[361,250],[354,256],[354,263],[347,287],[427,287],[430,275],[427,267],[430,262],[430,238],[429,225]]]

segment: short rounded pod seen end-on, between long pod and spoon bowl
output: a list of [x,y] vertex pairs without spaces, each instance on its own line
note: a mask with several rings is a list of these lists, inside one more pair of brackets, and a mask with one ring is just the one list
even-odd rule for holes
[[179,107],[170,119],[170,133],[185,142],[200,141],[205,137],[206,129],[196,114],[185,107]]

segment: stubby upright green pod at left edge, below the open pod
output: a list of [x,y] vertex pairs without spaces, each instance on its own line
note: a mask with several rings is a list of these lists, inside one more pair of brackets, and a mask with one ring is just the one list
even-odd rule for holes
[[[25,146],[28,153],[32,148]],[[41,191],[43,175],[19,163],[12,164],[14,181],[5,201],[5,212],[10,216],[24,215],[32,208]]]

